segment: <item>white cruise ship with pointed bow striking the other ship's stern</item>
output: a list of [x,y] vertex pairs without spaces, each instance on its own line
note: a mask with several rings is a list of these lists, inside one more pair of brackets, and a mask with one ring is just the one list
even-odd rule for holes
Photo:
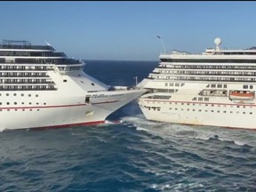
[[110,86],[51,44],[0,44],[0,130],[100,124],[144,89]]

